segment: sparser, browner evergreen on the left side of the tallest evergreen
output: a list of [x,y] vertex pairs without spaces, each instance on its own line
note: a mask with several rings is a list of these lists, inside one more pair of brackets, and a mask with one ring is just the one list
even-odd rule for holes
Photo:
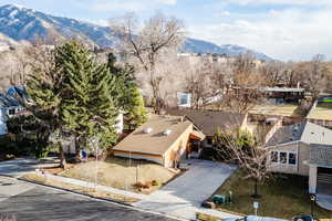
[[[55,67],[53,52],[42,46],[35,46],[35,50],[40,52],[39,56],[43,56],[43,63],[31,63],[33,73],[28,77],[27,92],[33,104],[25,107],[33,114],[40,128],[43,128],[43,139],[46,140],[52,133],[61,134],[63,128],[60,116],[61,94],[66,76]],[[59,145],[59,152],[61,156],[60,166],[64,168],[65,158],[61,145]]]

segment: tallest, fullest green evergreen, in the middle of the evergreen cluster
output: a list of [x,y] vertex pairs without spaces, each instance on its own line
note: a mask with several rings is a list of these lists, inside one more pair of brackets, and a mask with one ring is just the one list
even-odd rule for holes
[[117,135],[114,125],[118,115],[115,76],[106,65],[97,65],[86,48],[75,41],[64,44],[56,54],[62,72],[69,75],[62,106],[62,119],[74,131],[80,144],[97,138],[101,147],[113,145]]

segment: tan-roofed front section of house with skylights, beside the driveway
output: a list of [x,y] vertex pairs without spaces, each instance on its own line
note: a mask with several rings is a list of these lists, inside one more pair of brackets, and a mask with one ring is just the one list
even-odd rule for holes
[[177,167],[190,154],[190,140],[203,140],[205,135],[181,116],[152,115],[151,118],[120,141],[114,156],[145,159]]

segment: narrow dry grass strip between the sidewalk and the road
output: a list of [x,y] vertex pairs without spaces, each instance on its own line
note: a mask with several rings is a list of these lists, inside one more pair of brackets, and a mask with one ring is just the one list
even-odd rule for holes
[[124,197],[122,194],[105,192],[105,191],[101,191],[101,190],[95,191],[95,189],[93,189],[93,188],[85,188],[85,187],[81,187],[77,185],[71,185],[71,183],[61,182],[58,180],[45,179],[44,177],[39,176],[37,173],[28,173],[23,178],[25,178],[27,180],[40,182],[43,185],[60,187],[63,189],[69,189],[72,191],[82,192],[82,193],[86,193],[86,194],[94,196],[94,197],[106,198],[106,199],[117,200],[117,201],[127,202],[127,203],[138,201],[137,199]]

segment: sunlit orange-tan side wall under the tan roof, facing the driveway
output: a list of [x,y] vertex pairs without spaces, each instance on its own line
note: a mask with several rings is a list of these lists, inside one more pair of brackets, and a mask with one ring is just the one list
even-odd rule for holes
[[190,125],[164,154],[164,167],[174,167],[174,162],[177,159],[181,160],[186,158],[187,145],[193,129],[194,126]]

